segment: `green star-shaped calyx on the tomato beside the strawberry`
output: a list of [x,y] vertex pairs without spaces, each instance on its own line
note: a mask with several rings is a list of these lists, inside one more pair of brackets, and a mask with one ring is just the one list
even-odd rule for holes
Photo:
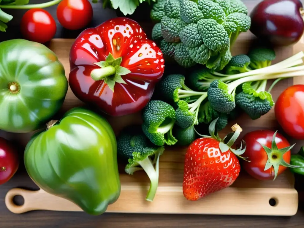
[[265,145],[261,144],[261,146],[264,148],[264,150],[268,156],[268,160],[266,161],[264,171],[270,169],[270,172],[272,172],[272,168],[273,168],[273,171],[275,172],[275,176],[274,176],[273,180],[275,180],[275,178],[278,176],[278,171],[279,171],[280,165],[282,165],[284,167],[288,167],[288,168],[300,168],[301,167],[298,165],[288,164],[284,160],[283,155],[286,152],[290,151],[292,149],[292,147],[294,147],[295,144],[293,144],[289,147],[284,147],[284,148],[278,149],[278,146],[275,142],[275,136],[276,136],[277,132],[278,131],[276,131],[273,134],[272,141],[271,141],[271,148],[266,147]]

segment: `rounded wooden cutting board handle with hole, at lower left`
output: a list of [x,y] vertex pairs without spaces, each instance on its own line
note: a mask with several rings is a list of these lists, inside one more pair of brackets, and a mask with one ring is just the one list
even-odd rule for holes
[[[16,214],[21,214],[24,212],[35,210],[35,208],[39,208],[39,204],[43,202],[43,199],[37,199],[39,194],[36,194],[38,191],[30,191],[22,188],[12,188],[9,190],[5,196],[5,204],[7,208]],[[24,199],[23,205],[16,205],[13,201],[15,196],[21,195]],[[38,204],[38,205],[36,205]]]

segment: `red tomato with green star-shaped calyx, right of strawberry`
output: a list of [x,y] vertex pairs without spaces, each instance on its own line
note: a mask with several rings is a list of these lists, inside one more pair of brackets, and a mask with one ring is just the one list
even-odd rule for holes
[[[271,130],[256,130],[247,133],[243,137],[243,140],[246,142],[246,151],[242,154],[242,157],[248,157],[247,160],[250,162],[243,161],[242,168],[256,179],[273,180],[275,178],[274,166],[278,168],[277,175],[279,175],[287,169],[287,167],[282,165],[282,162],[290,163],[290,150],[279,152],[274,147],[271,147],[274,134],[275,132]],[[278,149],[290,146],[287,139],[279,133],[275,135],[275,143]],[[270,148],[271,153],[269,155],[262,145]],[[268,160],[274,166],[264,171]]]

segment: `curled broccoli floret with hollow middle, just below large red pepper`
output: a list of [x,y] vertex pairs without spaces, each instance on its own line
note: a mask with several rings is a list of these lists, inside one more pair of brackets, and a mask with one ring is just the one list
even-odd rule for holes
[[142,129],[152,143],[157,146],[174,145],[177,140],[172,135],[175,110],[161,100],[151,100],[143,109]]

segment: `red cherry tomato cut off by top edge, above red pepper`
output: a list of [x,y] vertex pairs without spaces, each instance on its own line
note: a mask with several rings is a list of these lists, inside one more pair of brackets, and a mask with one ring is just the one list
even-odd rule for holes
[[92,20],[93,8],[88,0],[63,0],[58,4],[57,18],[66,29],[82,29]]

